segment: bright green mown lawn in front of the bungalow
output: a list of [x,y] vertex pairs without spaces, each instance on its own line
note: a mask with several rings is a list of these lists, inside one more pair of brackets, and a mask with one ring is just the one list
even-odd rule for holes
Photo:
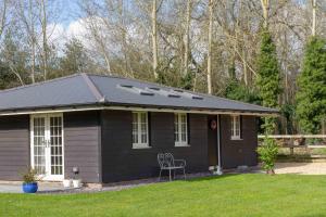
[[228,175],[91,194],[0,194],[0,216],[326,216],[326,176]]

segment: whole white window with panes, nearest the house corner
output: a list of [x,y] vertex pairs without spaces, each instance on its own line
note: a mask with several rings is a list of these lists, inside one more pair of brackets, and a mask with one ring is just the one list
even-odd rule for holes
[[148,113],[133,112],[133,149],[149,148]]

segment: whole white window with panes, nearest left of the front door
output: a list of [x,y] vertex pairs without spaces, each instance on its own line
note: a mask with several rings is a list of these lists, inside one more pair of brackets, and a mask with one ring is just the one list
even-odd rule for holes
[[174,114],[175,146],[188,146],[188,118],[186,113]]

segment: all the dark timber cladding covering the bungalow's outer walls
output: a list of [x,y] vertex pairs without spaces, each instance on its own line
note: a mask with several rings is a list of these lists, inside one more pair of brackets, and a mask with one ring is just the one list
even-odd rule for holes
[[[149,149],[133,149],[130,111],[64,113],[64,170],[79,167],[85,182],[113,182],[155,177],[156,154],[171,152],[187,161],[187,173],[208,171],[217,164],[217,130],[210,128],[215,115],[189,114],[190,146],[175,146],[174,113],[149,112]],[[230,139],[230,116],[220,115],[222,167],[254,166],[256,117],[241,116],[241,139]],[[217,126],[218,129],[218,126]],[[30,164],[29,115],[0,118],[0,179],[20,180]]]

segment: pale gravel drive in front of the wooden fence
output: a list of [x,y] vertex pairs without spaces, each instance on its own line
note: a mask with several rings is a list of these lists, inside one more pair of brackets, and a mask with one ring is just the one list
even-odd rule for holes
[[275,173],[326,175],[326,163],[277,163]]

